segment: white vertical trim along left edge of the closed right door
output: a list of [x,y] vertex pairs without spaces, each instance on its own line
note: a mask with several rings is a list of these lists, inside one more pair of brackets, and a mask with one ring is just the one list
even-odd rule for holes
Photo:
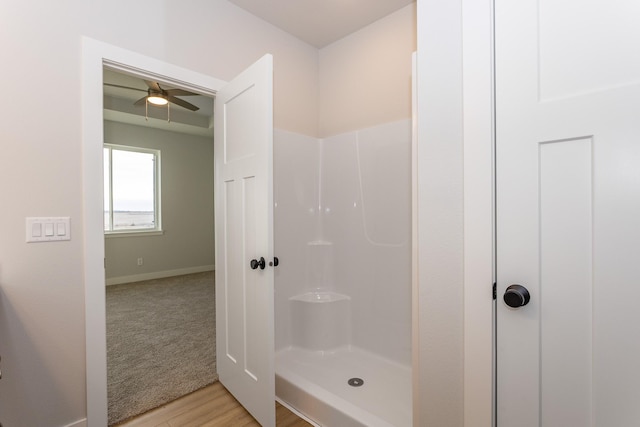
[[462,0],[464,420],[496,411],[494,0]]

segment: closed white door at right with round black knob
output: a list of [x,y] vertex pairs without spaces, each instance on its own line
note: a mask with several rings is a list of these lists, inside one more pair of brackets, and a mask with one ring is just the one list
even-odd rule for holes
[[640,425],[640,2],[495,7],[498,427]]

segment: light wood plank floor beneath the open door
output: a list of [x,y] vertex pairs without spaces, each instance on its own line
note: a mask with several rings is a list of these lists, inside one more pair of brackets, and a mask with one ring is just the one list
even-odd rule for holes
[[[310,427],[284,406],[276,403],[278,427]],[[216,382],[174,402],[140,415],[117,427],[259,427],[260,424],[238,401]]]

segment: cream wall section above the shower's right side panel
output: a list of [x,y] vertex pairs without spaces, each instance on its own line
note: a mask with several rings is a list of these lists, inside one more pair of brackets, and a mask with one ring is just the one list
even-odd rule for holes
[[416,4],[320,50],[320,137],[411,117]]

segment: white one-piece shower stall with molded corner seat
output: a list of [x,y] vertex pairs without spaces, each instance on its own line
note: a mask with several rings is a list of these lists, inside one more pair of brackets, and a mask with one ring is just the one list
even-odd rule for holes
[[276,395],[318,425],[411,425],[411,121],[274,135]]

